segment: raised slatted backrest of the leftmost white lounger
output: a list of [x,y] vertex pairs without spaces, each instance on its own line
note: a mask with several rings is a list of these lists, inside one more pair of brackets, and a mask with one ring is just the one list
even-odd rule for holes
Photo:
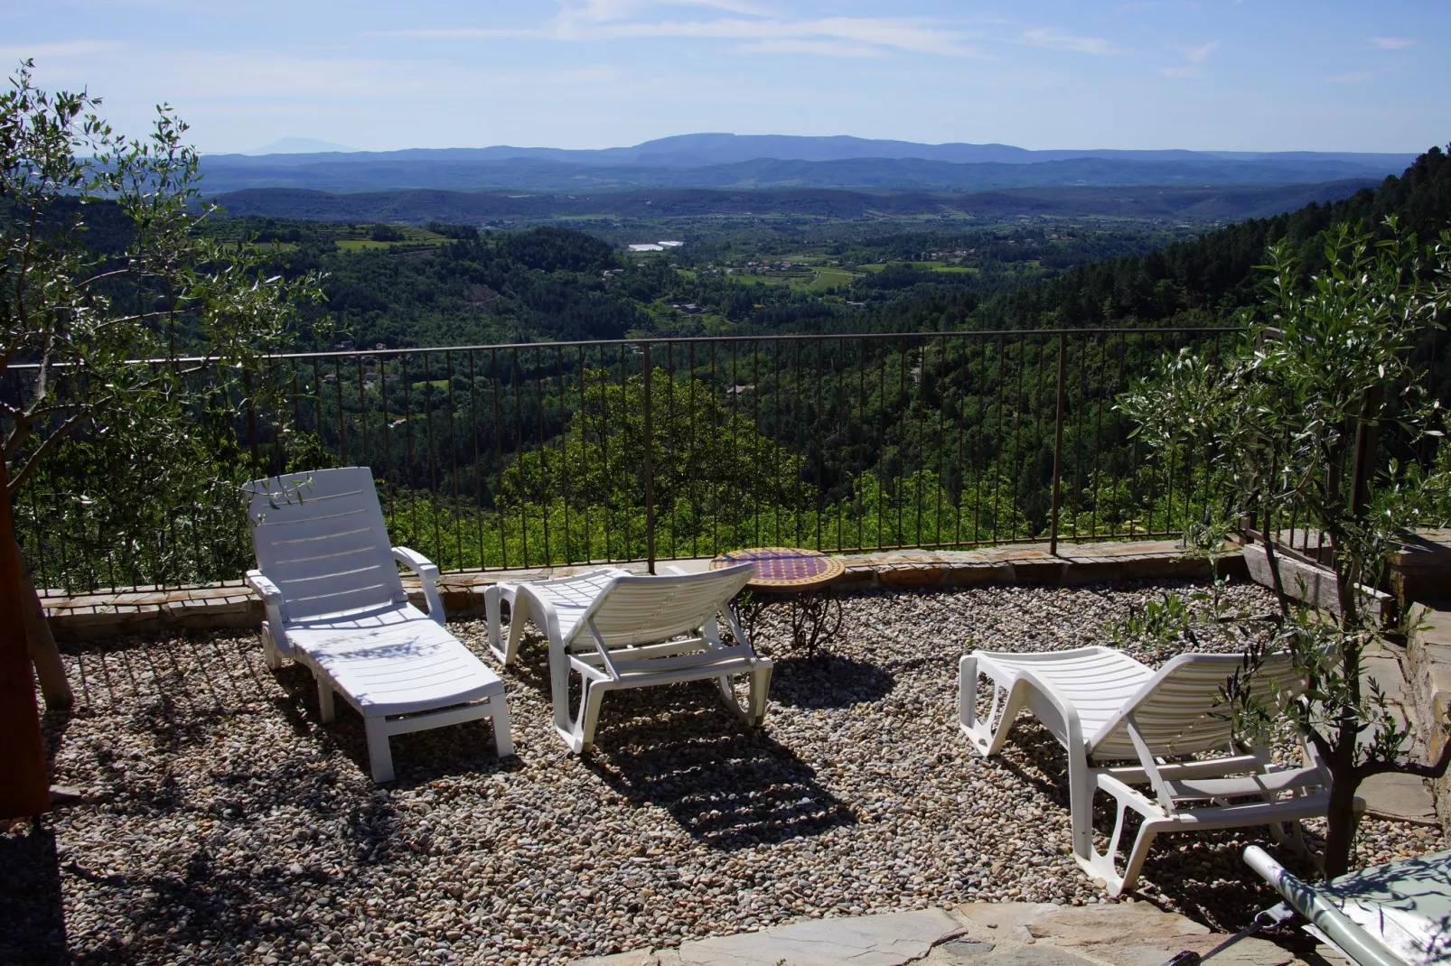
[[287,622],[408,600],[367,467],[290,473],[242,486],[257,566]]

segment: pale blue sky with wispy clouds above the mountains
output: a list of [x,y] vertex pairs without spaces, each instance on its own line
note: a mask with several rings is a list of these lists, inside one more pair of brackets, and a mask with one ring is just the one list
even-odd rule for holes
[[1448,46],[1444,0],[0,3],[7,64],[128,132],[168,102],[210,152],[695,131],[1422,151],[1451,141]]

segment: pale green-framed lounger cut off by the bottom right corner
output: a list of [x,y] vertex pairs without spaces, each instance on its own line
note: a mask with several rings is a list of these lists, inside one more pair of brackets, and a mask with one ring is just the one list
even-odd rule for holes
[[1245,862],[1360,966],[1428,966],[1451,960],[1451,851],[1399,859],[1310,885],[1264,849]]

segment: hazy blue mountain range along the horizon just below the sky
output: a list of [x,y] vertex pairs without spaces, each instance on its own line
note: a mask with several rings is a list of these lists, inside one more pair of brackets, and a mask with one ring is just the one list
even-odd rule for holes
[[[286,142],[279,142],[286,144]],[[1000,144],[698,133],[628,148],[411,148],[207,155],[213,194],[287,187],[608,191],[622,189],[871,189],[1310,184],[1380,180],[1415,155],[1242,151],[1027,151]]]

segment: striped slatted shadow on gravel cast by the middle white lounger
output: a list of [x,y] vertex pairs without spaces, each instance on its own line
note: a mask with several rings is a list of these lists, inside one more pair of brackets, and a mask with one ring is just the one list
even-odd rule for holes
[[663,808],[711,849],[731,851],[856,824],[811,767],[763,731],[686,737],[649,721],[628,728],[646,743],[621,748],[622,731],[612,732],[608,753],[592,756],[589,769],[630,802]]

